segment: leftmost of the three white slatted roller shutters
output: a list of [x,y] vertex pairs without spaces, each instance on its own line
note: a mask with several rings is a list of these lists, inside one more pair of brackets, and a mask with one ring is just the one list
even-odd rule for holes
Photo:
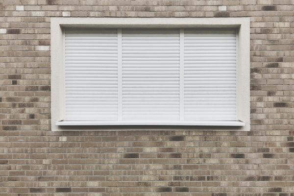
[[66,29],[66,120],[116,121],[117,29]]

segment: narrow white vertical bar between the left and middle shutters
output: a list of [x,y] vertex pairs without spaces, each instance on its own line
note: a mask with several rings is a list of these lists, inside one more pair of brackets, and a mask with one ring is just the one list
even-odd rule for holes
[[118,121],[123,121],[123,52],[121,28],[118,28]]

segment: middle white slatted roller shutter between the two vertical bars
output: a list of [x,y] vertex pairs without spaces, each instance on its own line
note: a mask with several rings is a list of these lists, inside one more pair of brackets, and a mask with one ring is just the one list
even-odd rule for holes
[[123,30],[123,120],[179,120],[179,30]]

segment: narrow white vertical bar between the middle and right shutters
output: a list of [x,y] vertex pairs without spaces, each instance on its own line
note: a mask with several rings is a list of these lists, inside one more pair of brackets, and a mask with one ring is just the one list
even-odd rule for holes
[[180,121],[184,121],[184,42],[185,31],[180,28]]

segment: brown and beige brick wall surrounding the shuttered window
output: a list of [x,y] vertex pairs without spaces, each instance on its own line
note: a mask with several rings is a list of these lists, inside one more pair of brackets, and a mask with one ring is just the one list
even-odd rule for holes
[[[0,10],[0,196],[294,196],[294,0],[0,0]],[[50,17],[61,16],[249,16],[251,131],[50,131]]]

